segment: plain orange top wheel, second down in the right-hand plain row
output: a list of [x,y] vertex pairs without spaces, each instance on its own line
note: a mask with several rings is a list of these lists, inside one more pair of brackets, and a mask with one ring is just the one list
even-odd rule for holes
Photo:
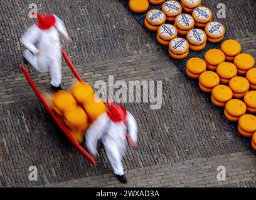
[[255,59],[250,54],[242,53],[235,56],[234,64],[238,69],[247,71],[255,65]]

